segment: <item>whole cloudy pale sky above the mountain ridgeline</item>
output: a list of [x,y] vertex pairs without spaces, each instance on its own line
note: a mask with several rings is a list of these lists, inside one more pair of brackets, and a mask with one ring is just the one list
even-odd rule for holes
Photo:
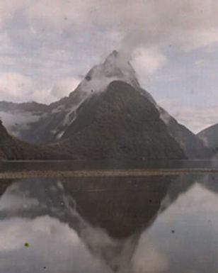
[[1,0],[0,42],[0,100],[57,100],[117,49],[188,128],[218,123],[217,0]]

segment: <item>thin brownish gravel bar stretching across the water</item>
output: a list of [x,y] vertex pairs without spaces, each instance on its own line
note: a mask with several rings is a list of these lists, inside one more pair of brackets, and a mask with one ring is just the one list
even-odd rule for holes
[[67,178],[67,177],[148,177],[180,174],[218,174],[218,169],[101,169],[72,171],[0,172],[0,179]]

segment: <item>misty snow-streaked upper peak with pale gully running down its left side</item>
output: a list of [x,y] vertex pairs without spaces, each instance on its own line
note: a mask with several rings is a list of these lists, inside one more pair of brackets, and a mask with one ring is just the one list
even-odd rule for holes
[[[72,99],[72,104],[65,108],[65,117],[62,123],[54,130],[57,140],[62,138],[67,126],[71,125],[77,116],[77,109],[93,94],[99,94],[105,91],[108,84],[115,80],[127,82],[135,89],[139,89],[136,73],[125,55],[114,50],[103,63],[94,66],[86,77],[82,80],[79,86],[73,91],[69,97]],[[74,100],[77,96],[76,100]],[[79,99],[78,99],[79,98]]]

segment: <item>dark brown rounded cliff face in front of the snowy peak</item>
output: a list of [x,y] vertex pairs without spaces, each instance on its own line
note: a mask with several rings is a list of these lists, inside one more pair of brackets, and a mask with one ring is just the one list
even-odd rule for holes
[[185,158],[156,107],[120,81],[86,100],[62,139],[54,148],[76,158]]

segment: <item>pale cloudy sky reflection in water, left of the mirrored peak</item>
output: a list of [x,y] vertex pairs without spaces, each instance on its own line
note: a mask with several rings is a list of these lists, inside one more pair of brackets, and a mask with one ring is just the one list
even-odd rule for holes
[[35,273],[45,271],[43,267],[55,273],[68,273],[72,268],[76,272],[109,272],[91,256],[69,225],[50,216],[6,219],[1,221],[0,230],[1,272],[30,269]]

